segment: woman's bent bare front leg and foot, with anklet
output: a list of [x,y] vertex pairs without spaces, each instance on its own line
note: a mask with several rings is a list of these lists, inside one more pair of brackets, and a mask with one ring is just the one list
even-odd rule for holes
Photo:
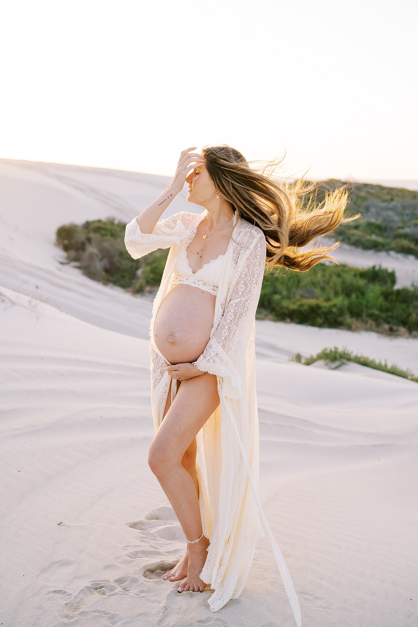
[[[204,374],[184,379],[179,386],[149,450],[149,466],[169,499],[184,535],[196,540],[202,535],[202,520],[197,490],[191,475],[182,466],[182,459],[197,433],[219,406],[217,379]],[[199,574],[206,562],[209,539],[189,544],[187,577],[179,591],[204,591],[206,583]]]

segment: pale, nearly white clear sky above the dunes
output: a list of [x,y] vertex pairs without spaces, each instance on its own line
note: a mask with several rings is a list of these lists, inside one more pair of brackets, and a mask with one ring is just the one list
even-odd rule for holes
[[173,176],[181,150],[281,176],[418,179],[418,3],[0,4],[0,157]]

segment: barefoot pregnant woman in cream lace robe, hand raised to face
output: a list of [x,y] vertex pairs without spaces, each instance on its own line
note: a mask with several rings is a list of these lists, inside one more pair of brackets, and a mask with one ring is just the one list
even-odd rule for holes
[[[306,271],[325,258],[335,261],[327,253],[338,242],[298,247],[358,216],[343,219],[343,188],[302,210],[300,198],[314,184],[282,185],[227,145],[192,150],[180,154],[170,185],[125,233],[134,259],[170,248],[150,323],[149,466],[187,547],[164,579],[182,580],[179,593],[210,584],[209,606],[222,608],[243,590],[265,535],[261,519],[300,626],[295,588],[258,498],[255,314],[266,262]],[[204,211],[160,219],[184,182],[187,201]]]

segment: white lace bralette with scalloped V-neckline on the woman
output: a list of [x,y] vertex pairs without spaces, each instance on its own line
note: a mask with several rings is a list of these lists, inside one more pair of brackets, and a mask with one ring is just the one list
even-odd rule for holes
[[187,259],[187,245],[189,242],[184,241],[177,259],[175,261],[171,285],[177,285],[177,283],[183,283],[184,285],[192,285],[193,287],[199,287],[205,292],[211,294],[217,294],[217,288],[219,287],[219,279],[221,278],[222,262],[224,261],[223,255],[217,256],[216,259],[212,259],[205,263],[199,270],[193,273],[192,268]]

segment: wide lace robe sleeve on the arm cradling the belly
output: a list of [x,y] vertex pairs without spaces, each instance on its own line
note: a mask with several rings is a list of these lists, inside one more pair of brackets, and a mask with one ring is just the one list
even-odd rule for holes
[[266,238],[257,234],[219,323],[194,362],[203,372],[222,377],[222,394],[237,399],[242,394],[239,370],[253,326],[266,265]]

